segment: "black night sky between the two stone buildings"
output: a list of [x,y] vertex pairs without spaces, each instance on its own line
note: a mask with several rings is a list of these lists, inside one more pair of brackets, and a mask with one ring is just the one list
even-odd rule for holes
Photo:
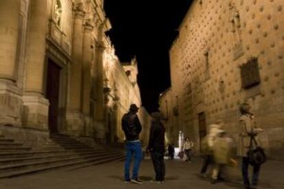
[[121,62],[138,60],[142,105],[158,110],[158,96],[170,86],[169,47],[192,0],[105,0],[113,29],[107,35]]

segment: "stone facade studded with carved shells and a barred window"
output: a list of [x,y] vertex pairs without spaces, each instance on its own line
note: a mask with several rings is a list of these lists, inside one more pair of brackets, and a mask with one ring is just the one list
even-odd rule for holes
[[[248,102],[263,147],[284,159],[284,2],[193,1],[169,51],[171,89],[160,98],[176,140],[196,142],[219,118],[237,140],[239,105]],[[171,112],[175,112],[171,113]]]

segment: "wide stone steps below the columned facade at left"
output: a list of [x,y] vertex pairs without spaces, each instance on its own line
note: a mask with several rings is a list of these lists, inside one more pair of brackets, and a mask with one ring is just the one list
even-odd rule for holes
[[51,135],[49,142],[40,149],[23,147],[23,144],[0,136],[0,179],[58,168],[71,171],[124,157],[121,149],[88,146],[62,135]]

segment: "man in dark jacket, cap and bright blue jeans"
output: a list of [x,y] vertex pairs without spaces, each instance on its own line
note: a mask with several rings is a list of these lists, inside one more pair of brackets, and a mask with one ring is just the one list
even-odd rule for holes
[[[134,182],[141,184],[138,179],[140,162],[142,160],[142,146],[139,140],[139,134],[142,130],[141,123],[137,116],[139,108],[135,104],[130,105],[130,110],[124,114],[121,120],[122,129],[126,136],[126,163],[124,168],[124,179],[126,182]],[[134,166],[132,170],[132,178],[130,180],[130,164],[134,156]]]

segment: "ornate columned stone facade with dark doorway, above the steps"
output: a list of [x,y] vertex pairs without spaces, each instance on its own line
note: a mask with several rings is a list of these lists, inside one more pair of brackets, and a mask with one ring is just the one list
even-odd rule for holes
[[[103,0],[0,1],[0,131],[29,145],[50,133],[122,141],[141,105],[137,62],[125,68],[105,32]],[[133,71],[132,71],[133,70]],[[148,114],[141,108],[148,123]],[[142,120],[143,122],[143,120]]]

